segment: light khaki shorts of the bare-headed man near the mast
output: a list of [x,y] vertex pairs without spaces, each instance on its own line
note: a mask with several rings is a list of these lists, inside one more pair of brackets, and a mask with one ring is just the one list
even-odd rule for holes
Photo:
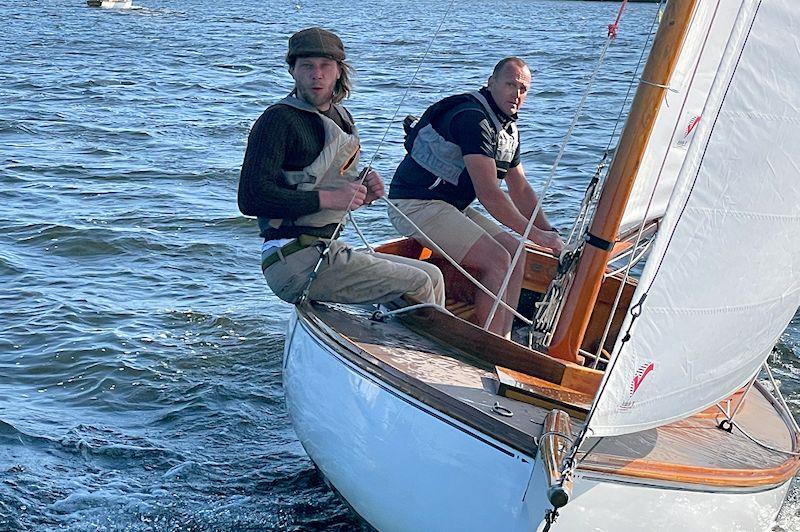
[[459,211],[441,200],[394,199],[391,202],[425,233],[419,233],[390,207],[389,220],[400,234],[413,237],[428,247],[433,240],[459,263],[482,236],[494,238],[506,232],[472,207]]

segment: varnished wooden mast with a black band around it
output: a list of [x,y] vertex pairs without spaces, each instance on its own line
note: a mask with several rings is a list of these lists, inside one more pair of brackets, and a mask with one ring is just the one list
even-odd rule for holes
[[[551,356],[577,362],[592,315],[611,247],[616,240],[634,178],[664,99],[683,40],[699,0],[670,0],[647,60],[643,82],[636,91],[631,111],[608,170],[603,192],[589,228],[593,238],[584,247],[575,280],[550,343]],[[598,247],[599,246],[599,247]],[[608,249],[606,249],[608,248]]]

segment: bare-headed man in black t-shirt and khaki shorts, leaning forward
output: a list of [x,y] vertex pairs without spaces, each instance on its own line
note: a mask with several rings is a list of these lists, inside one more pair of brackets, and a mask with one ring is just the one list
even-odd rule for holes
[[[450,96],[429,107],[410,129],[407,155],[389,189],[389,199],[422,233],[393,209],[398,231],[423,244],[435,242],[463,266],[477,270],[478,280],[499,292],[518,237],[481,216],[469,205],[477,198],[501,224],[525,234],[538,198],[520,162],[517,112],[531,85],[528,66],[509,57],[495,67],[480,91]],[[500,188],[505,180],[508,193]],[[561,252],[562,243],[544,212],[537,213],[529,238]],[[503,300],[516,306],[524,261],[514,270]],[[484,326],[492,298],[476,292],[475,320]],[[497,311],[489,330],[508,335],[513,315]]]

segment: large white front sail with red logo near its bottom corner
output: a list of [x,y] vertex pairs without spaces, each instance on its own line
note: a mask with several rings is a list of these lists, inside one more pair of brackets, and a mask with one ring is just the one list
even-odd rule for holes
[[724,399],[756,374],[800,305],[800,9],[713,4],[734,10],[710,27],[728,26],[719,69],[592,436],[646,430]]

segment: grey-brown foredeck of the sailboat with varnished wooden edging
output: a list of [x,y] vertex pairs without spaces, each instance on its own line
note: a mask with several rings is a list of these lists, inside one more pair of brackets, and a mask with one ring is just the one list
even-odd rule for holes
[[[537,406],[498,395],[494,364],[426,338],[401,320],[372,321],[366,311],[340,306],[315,304],[305,311],[329,334],[335,331],[356,346],[350,356],[361,359],[357,362],[402,381],[407,386],[401,389],[415,399],[526,454],[535,452],[545,415],[560,406]],[[488,333],[486,339],[508,342]],[[731,399],[734,407],[740,397]],[[732,489],[773,486],[792,477],[797,457],[758,445],[737,429],[721,430],[720,419],[721,413],[713,408],[656,429],[589,440],[584,447],[590,452],[579,456],[579,471]],[[748,394],[736,422],[770,447],[797,449],[792,431],[758,387]],[[574,431],[579,423],[573,420]]]

